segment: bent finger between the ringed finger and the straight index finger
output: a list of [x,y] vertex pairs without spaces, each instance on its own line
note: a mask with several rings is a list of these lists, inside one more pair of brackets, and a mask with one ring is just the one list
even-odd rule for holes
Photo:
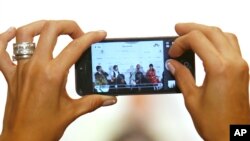
[[75,39],[83,35],[83,31],[74,21],[49,21],[41,33],[34,56],[39,59],[52,59],[52,51],[59,35],[67,34]]

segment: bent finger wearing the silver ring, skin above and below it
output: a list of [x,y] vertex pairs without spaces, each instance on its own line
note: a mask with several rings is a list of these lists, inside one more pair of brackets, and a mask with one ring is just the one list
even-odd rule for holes
[[[16,42],[33,42],[33,38],[41,33],[45,23],[46,21],[42,20],[18,28],[16,33]],[[28,59],[19,60],[18,64],[22,65],[27,61]]]

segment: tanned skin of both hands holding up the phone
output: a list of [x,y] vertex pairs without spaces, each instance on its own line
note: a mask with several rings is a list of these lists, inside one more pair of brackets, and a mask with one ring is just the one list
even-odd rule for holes
[[[242,59],[235,35],[217,27],[177,24],[180,35],[169,50],[171,57],[192,49],[203,61],[206,76],[196,86],[189,70],[175,60],[166,65],[176,77],[185,104],[200,136],[206,141],[229,140],[230,124],[250,124],[249,69]],[[73,41],[53,58],[59,35]],[[32,42],[40,35],[32,58],[14,65],[5,51],[8,41]],[[101,106],[116,103],[115,97],[90,95],[71,99],[65,89],[69,68],[105,32],[84,34],[72,21],[38,21],[0,35],[0,70],[8,83],[8,98],[0,141],[55,141],[76,118]]]

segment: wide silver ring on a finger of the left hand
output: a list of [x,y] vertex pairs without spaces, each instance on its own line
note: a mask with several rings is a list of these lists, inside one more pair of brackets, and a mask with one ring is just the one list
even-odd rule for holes
[[20,42],[13,44],[13,60],[29,59],[35,51],[35,43]]

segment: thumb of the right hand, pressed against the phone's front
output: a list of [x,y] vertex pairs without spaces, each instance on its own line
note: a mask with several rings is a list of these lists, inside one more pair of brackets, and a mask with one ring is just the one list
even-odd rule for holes
[[196,93],[197,87],[194,77],[187,67],[173,59],[166,61],[166,67],[175,77],[185,100]]

